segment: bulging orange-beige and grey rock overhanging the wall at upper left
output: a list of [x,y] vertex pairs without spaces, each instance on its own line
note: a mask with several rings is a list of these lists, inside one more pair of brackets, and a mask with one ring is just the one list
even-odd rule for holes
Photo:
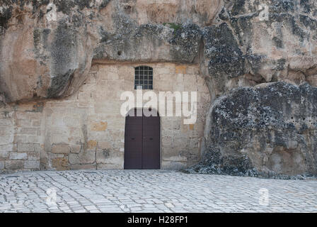
[[[5,1],[1,12],[0,89],[7,102],[69,94],[91,67],[85,6],[76,1]],[[88,2],[88,1],[87,1]],[[73,7],[68,11],[66,7]],[[63,13],[64,11],[64,13]]]

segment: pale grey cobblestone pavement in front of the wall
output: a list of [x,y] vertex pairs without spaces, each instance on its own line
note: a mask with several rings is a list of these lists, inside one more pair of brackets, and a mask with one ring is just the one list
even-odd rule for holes
[[303,211],[317,212],[317,180],[187,175],[160,170],[0,175],[0,212]]

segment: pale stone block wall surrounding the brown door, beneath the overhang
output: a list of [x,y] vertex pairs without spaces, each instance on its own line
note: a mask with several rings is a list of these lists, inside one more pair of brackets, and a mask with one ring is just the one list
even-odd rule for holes
[[[0,109],[0,170],[122,169],[125,117],[120,94],[134,90],[134,67],[95,64],[66,99],[6,105]],[[197,65],[150,63],[154,92],[197,92],[197,122],[161,117],[161,168],[178,170],[200,160],[210,96]],[[145,92],[145,91],[144,91]],[[175,108],[175,107],[174,107]]]

